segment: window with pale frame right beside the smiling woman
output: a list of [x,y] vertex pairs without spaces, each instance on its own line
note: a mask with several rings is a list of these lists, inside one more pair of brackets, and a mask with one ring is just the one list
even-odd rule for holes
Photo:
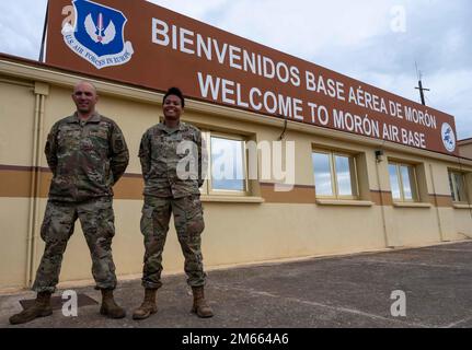
[[246,195],[245,140],[242,137],[218,132],[203,132],[207,145],[207,180],[204,195]]

